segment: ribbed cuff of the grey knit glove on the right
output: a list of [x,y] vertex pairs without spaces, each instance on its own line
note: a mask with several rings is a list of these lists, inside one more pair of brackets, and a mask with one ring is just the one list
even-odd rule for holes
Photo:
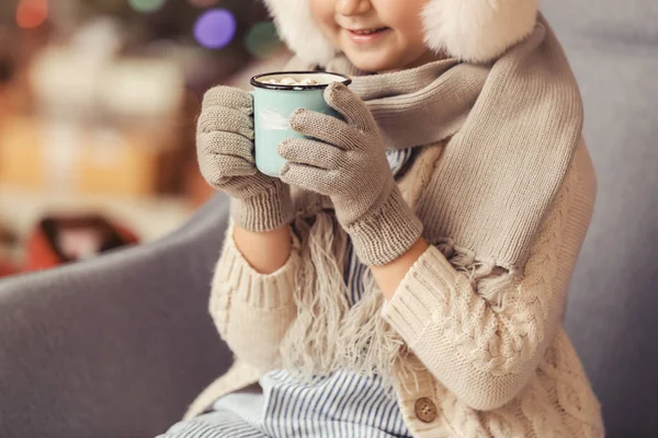
[[379,266],[409,251],[422,234],[422,222],[394,186],[384,203],[347,231],[361,262]]

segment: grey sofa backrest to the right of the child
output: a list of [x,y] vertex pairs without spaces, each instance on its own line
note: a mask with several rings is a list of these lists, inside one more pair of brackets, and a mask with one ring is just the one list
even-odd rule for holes
[[611,437],[658,437],[658,1],[545,0],[585,100],[599,194],[566,327]]

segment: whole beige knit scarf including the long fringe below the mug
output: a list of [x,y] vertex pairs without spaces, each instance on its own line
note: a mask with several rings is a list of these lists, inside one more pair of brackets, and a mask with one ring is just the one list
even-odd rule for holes
[[[295,59],[288,68],[316,66]],[[364,74],[339,56],[326,70],[353,77],[350,88],[366,102],[387,148],[447,141],[418,204],[426,238],[450,239],[475,261],[519,275],[582,129],[578,87],[543,16],[533,34],[491,65],[446,59]],[[350,308],[344,231],[329,210],[303,204],[313,215],[295,221],[306,263],[297,278],[298,318],[282,344],[284,367],[307,378],[341,368],[399,371],[407,350],[378,315],[383,297],[372,274],[365,296]]]

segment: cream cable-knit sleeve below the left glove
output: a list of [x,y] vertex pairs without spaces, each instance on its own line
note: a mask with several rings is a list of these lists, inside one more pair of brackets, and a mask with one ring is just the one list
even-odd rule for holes
[[286,263],[272,274],[260,274],[237,249],[232,229],[231,221],[215,268],[209,311],[234,354],[265,371],[280,364],[281,341],[296,316],[293,291],[299,243],[293,235]]

